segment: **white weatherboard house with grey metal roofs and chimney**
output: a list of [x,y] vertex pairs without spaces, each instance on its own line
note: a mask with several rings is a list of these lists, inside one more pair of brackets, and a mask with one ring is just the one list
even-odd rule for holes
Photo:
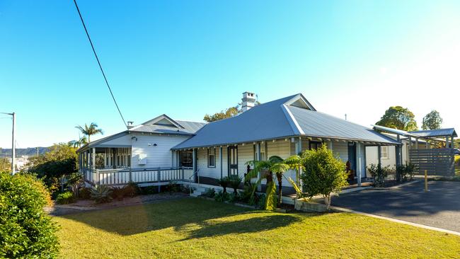
[[80,171],[92,185],[213,184],[247,173],[247,161],[285,159],[323,144],[350,161],[360,184],[367,146],[401,146],[374,129],[318,112],[300,93],[255,105],[255,95],[245,92],[242,100],[243,113],[225,120],[205,124],[161,115],[91,142],[78,151]]

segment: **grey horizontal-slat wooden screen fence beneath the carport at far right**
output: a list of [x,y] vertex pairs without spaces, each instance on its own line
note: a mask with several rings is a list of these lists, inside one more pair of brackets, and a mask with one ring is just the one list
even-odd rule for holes
[[421,175],[455,175],[454,149],[411,149],[409,158]]

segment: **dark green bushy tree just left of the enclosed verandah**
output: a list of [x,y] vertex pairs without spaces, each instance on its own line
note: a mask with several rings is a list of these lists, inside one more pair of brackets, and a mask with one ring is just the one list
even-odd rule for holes
[[56,178],[76,172],[76,149],[66,143],[54,144],[42,156],[30,159],[28,171],[44,178],[45,183],[55,182]]

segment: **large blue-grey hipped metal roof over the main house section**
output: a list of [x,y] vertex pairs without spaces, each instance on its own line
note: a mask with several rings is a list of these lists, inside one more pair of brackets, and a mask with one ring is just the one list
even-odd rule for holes
[[[301,105],[293,100],[303,100],[306,102],[305,106],[301,108]],[[255,142],[299,135],[399,144],[373,129],[309,110],[312,106],[307,102],[299,93],[257,105],[235,117],[205,125],[195,136],[174,146],[173,149]]]

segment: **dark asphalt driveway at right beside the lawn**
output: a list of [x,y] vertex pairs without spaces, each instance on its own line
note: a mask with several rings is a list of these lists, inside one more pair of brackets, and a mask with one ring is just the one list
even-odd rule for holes
[[460,232],[460,183],[422,181],[392,190],[362,190],[332,198],[332,205]]

